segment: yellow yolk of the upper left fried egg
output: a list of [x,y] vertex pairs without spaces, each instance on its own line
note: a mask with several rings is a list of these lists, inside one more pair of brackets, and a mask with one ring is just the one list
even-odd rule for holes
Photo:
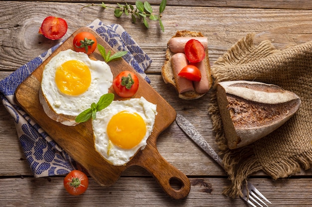
[[62,93],[80,95],[90,86],[91,72],[81,61],[70,60],[56,69],[55,82]]

